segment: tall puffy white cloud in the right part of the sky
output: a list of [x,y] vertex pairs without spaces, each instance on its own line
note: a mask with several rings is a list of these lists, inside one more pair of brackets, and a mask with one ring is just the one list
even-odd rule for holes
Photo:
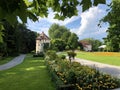
[[100,9],[99,7],[92,7],[88,11],[83,12],[81,14],[81,26],[77,32],[79,37],[90,37],[90,35],[94,36],[103,32],[105,33],[106,30],[104,29],[107,29],[107,26],[103,28],[98,27],[99,20],[102,19],[105,14],[105,10]]

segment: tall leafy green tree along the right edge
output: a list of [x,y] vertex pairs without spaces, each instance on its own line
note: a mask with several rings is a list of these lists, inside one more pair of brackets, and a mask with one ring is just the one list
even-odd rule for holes
[[110,12],[103,18],[109,23],[107,37],[104,38],[109,51],[120,51],[120,0],[113,0]]

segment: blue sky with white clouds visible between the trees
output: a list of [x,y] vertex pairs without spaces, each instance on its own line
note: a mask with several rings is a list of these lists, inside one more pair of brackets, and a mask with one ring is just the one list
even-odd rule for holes
[[[110,3],[111,0],[107,0]],[[99,4],[96,7],[91,7],[89,10],[82,12],[81,7],[77,7],[79,10],[78,16],[66,18],[64,21],[54,19],[54,12],[49,9],[49,15],[47,18],[39,18],[38,21],[33,22],[28,19],[27,27],[30,30],[38,33],[45,32],[48,35],[48,30],[53,23],[64,25],[71,32],[78,35],[79,40],[85,38],[94,38],[102,40],[106,37],[106,30],[109,27],[108,23],[103,23],[102,27],[98,27],[99,20],[101,20],[106,14],[107,5]]]

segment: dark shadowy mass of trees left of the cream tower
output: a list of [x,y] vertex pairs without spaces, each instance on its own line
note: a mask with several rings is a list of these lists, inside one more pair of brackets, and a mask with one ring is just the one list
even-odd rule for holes
[[14,26],[3,21],[4,36],[0,42],[0,55],[11,56],[19,53],[28,53],[35,49],[36,32],[27,29],[25,24],[16,23]]

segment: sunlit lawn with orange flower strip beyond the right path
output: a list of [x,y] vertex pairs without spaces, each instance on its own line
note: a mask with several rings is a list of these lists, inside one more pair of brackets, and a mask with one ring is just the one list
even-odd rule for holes
[[77,58],[120,66],[120,53],[116,52],[77,52]]

